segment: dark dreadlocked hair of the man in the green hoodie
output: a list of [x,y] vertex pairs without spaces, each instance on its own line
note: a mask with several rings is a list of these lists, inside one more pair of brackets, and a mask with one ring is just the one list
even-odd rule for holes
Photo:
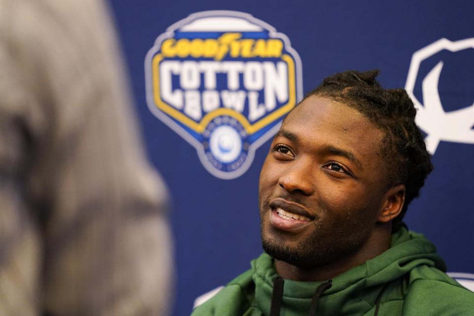
[[405,203],[393,219],[392,230],[403,226],[408,204],[418,197],[433,170],[423,135],[415,124],[416,109],[404,89],[384,89],[375,80],[378,70],[347,71],[325,78],[305,96],[320,96],[355,109],[384,133],[380,155],[388,169],[388,186],[404,184]]

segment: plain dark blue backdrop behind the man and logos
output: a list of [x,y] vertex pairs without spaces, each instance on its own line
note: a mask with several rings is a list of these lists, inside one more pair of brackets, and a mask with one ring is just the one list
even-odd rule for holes
[[[409,207],[405,221],[410,229],[425,234],[437,245],[448,271],[474,274],[474,1],[388,4],[386,1],[111,0],[110,3],[149,156],[172,195],[177,264],[173,315],[189,315],[197,296],[247,270],[249,261],[262,251],[258,175],[270,142],[256,148],[255,158],[242,175],[224,180],[211,174],[208,169],[212,167],[205,167],[202,162],[212,152],[204,134],[188,131],[191,136],[185,139],[185,123],[170,115],[158,118],[159,111],[151,111],[150,103],[156,101],[153,93],[147,104],[146,82],[153,83],[145,72],[153,68],[145,61],[147,53],[168,27],[192,13],[207,10],[249,13],[286,35],[301,57],[302,77],[298,78],[301,75],[298,57],[288,53],[288,45],[284,44],[283,51],[296,63],[295,94],[298,85],[302,84],[306,93],[323,77],[351,69],[378,68],[379,80],[385,87],[406,86],[423,112],[420,125],[430,137],[435,170],[421,197]],[[181,36],[192,40],[204,36],[193,30],[184,35],[176,30],[165,38]],[[223,34],[216,32],[210,35],[207,32],[205,36],[218,39]],[[269,37],[268,29],[260,33],[261,38]],[[247,33],[241,34],[242,39],[252,38]],[[170,56],[169,60],[173,60]],[[175,56],[174,60],[194,58],[186,53],[183,56]],[[267,60],[264,57],[255,60]],[[278,58],[268,60],[272,65],[279,61]],[[290,64],[286,64],[288,78]],[[183,84],[176,76],[169,75],[175,88]],[[289,86],[290,81],[291,78],[287,82]],[[202,91],[202,86],[199,89]],[[288,89],[291,92],[291,86]],[[276,109],[282,105],[278,103]],[[174,110],[183,113],[179,106],[174,105]],[[266,126],[271,133],[271,125]],[[205,154],[200,158],[199,146]],[[225,166],[224,163],[214,168]]]

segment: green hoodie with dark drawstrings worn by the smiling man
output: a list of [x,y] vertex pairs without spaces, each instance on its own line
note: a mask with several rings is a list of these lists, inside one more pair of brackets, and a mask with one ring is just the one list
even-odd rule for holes
[[[262,254],[251,266],[192,315],[271,315],[274,281],[279,278],[274,261]],[[278,281],[284,285],[282,298],[275,293],[274,303],[281,304],[276,315],[474,315],[474,293],[444,271],[435,246],[424,236],[402,228],[393,235],[390,249],[334,277],[332,286],[327,281]],[[318,296],[315,292],[319,292],[319,299],[314,298]],[[312,300],[316,306],[310,313]]]

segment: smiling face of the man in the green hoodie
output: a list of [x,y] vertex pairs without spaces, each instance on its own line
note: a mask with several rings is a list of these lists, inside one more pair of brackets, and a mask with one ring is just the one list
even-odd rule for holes
[[271,256],[309,268],[362,248],[387,191],[382,137],[368,118],[322,97],[288,115],[260,173],[262,241]]

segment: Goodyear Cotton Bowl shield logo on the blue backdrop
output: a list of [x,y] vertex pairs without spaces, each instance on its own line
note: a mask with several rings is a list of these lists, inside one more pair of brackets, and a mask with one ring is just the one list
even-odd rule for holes
[[206,11],[168,28],[145,60],[150,110],[221,179],[242,175],[301,98],[288,38],[250,14]]

